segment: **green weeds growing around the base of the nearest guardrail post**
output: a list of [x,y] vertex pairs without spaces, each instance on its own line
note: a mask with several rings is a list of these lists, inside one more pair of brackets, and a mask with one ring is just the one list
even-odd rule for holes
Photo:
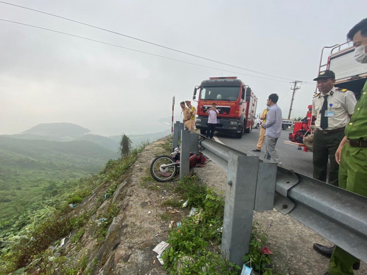
[[[237,274],[241,267],[225,260],[219,247],[224,199],[198,182],[195,176],[179,180],[174,191],[188,199],[189,207],[200,210],[196,215],[184,217],[180,227],[172,228],[167,241],[170,247],[162,255],[163,267],[172,275]],[[175,201],[170,203],[176,204]],[[258,224],[254,224],[250,252],[244,255],[243,260],[247,263],[251,258],[252,267],[259,274],[280,275],[283,273],[272,267],[272,255],[260,252],[266,245],[269,228],[262,231]]]

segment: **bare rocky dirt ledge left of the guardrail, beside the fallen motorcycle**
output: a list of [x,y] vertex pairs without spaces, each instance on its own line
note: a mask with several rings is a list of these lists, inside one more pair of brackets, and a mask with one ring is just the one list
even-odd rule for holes
[[[156,185],[152,189],[142,186],[142,178],[150,175],[151,161],[155,155],[163,153],[161,145],[167,139],[163,138],[145,148],[137,161],[117,180],[119,187],[113,196],[100,203],[97,198],[101,197],[103,191],[96,190],[80,205],[76,212],[92,211],[100,206],[84,227],[86,232],[78,245],[66,242],[64,251],[69,258],[73,258],[73,254],[76,258],[86,254],[89,262],[87,267],[93,268],[94,274],[168,274],[152,249],[168,238],[168,220],[161,220],[160,214],[165,211],[161,206],[164,200],[162,197],[171,193],[160,190],[159,182],[152,182]],[[111,183],[106,183],[105,187],[106,185]],[[98,243],[95,237],[98,230],[95,220],[112,206],[116,206],[119,213],[113,218],[104,242]]]

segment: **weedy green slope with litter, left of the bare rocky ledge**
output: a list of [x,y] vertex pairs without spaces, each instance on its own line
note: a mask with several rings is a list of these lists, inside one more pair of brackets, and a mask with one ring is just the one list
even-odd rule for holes
[[[94,232],[99,243],[103,242],[107,229],[119,209],[116,205],[108,205],[104,212],[100,213],[105,220],[99,227],[97,224],[86,226],[100,204],[94,203],[93,209],[83,211],[83,205],[86,203],[84,198],[92,191],[97,195],[107,192],[112,195],[118,187],[115,180],[124,176],[124,172],[144,147],[145,144],[133,149],[125,158],[109,160],[99,174],[78,181],[77,187],[44,201],[42,209],[23,213],[19,221],[7,224],[0,236],[0,274],[9,274],[15,270],[33,274],[36,267],[40,267],[39,272],[42,274],[55,274],[56,269],[57,274],[76,275],[80,270],[83,274],[92,274],[91,269],[86,269],[87,255],[74,259],[60,254],[60,239],[74,231],[71,242],[77,243],[88,230],[88,234]],[[77,206],[70,207],[70,203]],[[97,260],[94,260],[93,264],[96,265]]]

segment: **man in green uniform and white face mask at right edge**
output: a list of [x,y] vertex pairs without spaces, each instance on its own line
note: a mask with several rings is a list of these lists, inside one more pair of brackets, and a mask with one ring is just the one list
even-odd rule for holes
[[[355,25],[347,35],[356,47],[354,57],[367,63],[367,18]],[[339,166],[339,187],[367,197],[367,81],[357,101],[354,113],[345,127],[335,158]],[[359,260],[335,246],[325,275],[350,275]]]

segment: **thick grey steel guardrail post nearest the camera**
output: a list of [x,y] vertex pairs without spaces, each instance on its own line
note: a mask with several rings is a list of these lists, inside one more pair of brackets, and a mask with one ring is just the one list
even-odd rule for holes
[[258,165],[258,156],[229,152],[222,255],[240,266],[250,246]]

